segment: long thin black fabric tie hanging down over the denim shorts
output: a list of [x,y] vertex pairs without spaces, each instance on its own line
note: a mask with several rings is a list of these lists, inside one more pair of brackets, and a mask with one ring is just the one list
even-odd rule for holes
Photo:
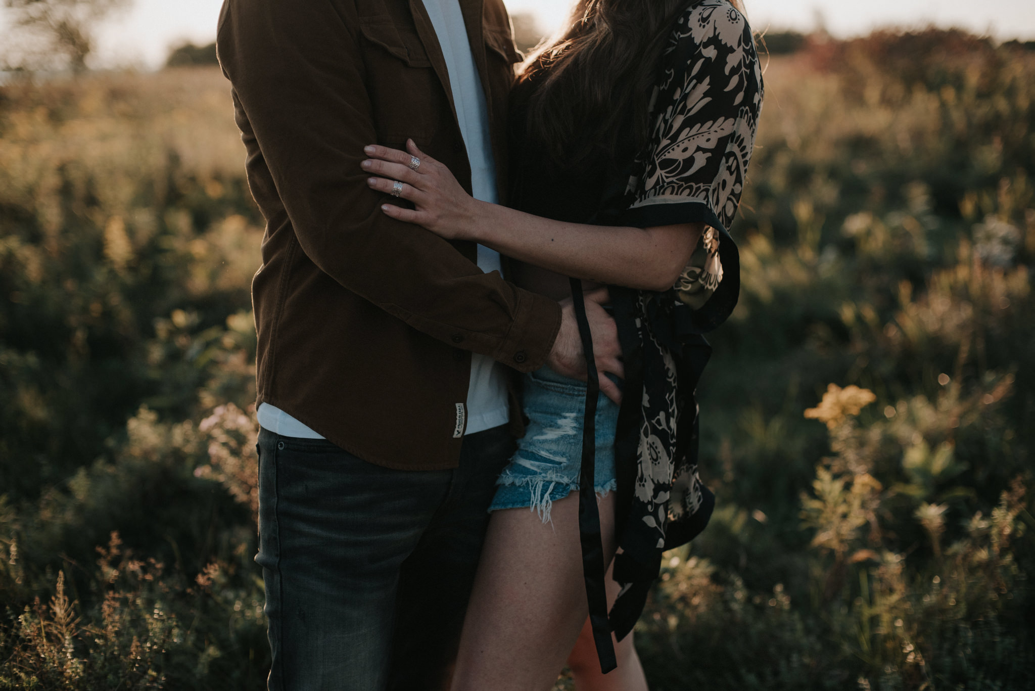
[[571,279],[571,301],[586,353],[586,415],[583,420],[582,472],[579,481],[579,538],[582,543],[583,577],[589,604],[589,621],[593,627],[593,641],[600,660],[600,671],[607,674],[618,666],[615,645],[611,640],[611,623],[608,621],[608,593],[603,583],[603,543],[600,539],[600,511],[596,506],[594,467],[596,461],[596,398],[600,393],[600,379],[593,357],[593,337],[586,319],[586,303],[582,282]]

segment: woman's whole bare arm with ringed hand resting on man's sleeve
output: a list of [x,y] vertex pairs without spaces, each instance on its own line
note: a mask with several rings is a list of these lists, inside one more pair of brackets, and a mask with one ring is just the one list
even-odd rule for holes
[[[704,224],[656,228],[589,226],[552,221],[498,204],[473,199],[439,162],[424,155],[412,142],[409,153],[384,146],[367,146],[371,156],[363,170],[368,184],[413,202],[415,209],[382,205],[389,217],[423,226],[447,239],[467,239],[514,259],[564,276],[630,288],[671,288],[689,262]],[[416,170],[410,167],[419,160]]]

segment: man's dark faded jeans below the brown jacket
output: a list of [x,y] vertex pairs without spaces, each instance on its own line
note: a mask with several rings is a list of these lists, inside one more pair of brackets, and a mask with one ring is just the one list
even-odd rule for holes
[[425,691],[456,654],[505,427],[455,470],[392,470],[329,441],[259,434],[270,691]]

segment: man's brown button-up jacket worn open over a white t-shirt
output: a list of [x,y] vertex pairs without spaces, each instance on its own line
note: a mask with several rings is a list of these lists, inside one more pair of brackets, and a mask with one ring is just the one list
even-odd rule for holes
[[[502,196],[519,56],[501,0],[460,4]],[[363,146],[403,149],[413,138],[471,190],[423,4],[226,0],[217,46],[267,223],[252,287],[259,402],[378,465],[455,467],[471,352],[536,369],[560,308],[482,272],[475,244],[389,219],[385,197],[366,185]]]

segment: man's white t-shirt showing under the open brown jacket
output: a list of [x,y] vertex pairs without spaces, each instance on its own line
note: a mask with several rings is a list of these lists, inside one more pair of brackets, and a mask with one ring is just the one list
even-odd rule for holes
[[[489,132],[489,107],[481,80],[474,64],[467,26],[457,0],[423,0],[424,8],[435,27],[442,47],[452,89],[456,120],[460,124],[467,157],[471,163],[471,188],[475,199],[497,203],[496,164]],[[417,142],[420,145],[420,142]],[[500,255],[478,246],[478,268],[500,270]],[[471,383],[467,391],[467,426],[465,434],[505,425],[509,420],[507,386],[502,366],[487,355],[471,356]],[[323,436],[269,403],[259,406],[259,424],[276,434],[307,439]]]

